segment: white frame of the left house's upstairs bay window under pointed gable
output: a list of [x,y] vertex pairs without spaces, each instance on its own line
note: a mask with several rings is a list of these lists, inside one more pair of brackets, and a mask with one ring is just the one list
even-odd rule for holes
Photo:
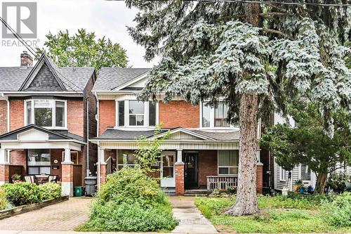
[[[51,122],[51,126],[42,126],[46,129],[61,129],[61,130],[67,130],[67,100],[60,100],[60,99],[44,99],[44,98],[32,98],[32,99],[27,99],[24,102],[24,106],[25,106],[25,126],[29,125],[29,124],[35,124],[35,111],[34,111],[34,101],[35,100],[48,100],[51,103],[51,108],[52,108],[52,122]],[[27,102],[31,103],[32,106],[32,112],[31,112],[31,123],[27,122]],[[56,125],[56,101],[58,102],[62,102],[65,103],[65,126],[55,126]]]

